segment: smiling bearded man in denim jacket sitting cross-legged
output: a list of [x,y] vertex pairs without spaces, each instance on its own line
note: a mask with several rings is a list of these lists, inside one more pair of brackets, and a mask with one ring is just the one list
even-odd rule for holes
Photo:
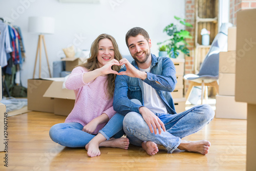
[[129,30],[125,40],[135,60],[119,61],[125,68],[115,80],[113,107],[125,115],[123,129],[130,143],[141,145],[148,155],[155,155],[159,145],[168,153],[179,148],[207,154],[209,141],[181,139],[201,130],[214,118],[214,111],[203,104],[177,114],[170,94],[177,83],[172,60],[151,54],[151,39],[142,28]]

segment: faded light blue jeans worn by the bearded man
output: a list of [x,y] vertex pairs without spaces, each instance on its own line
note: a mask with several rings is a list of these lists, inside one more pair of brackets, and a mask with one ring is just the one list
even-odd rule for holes
[[127,113],[123,120],[123,130],[130,143],[140,146],[143,141],[153,141],[163,145],[168,153],[172,153],[181,143],[181,138],[194,134],[208,124],[215,115],[208,104],[195,106],[178,114],[156,114],[164,123],[166,132],[161,129],[161,134],[155,135],[141,114]]

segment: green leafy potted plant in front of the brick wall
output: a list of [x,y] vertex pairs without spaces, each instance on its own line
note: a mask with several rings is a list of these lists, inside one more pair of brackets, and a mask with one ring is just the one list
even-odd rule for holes
[[[181,25],[184,25],[186,27],[193,27],[191,24],[186,22],[186,19],[182,19],[177,16],[174,16],[174,18],[177,19]],[[163,32],[166,32],[166,34],[170,36],[170,38],[163,42],[159,42],[158,45],[164,44],[166,46],[166,51],[169,57],[177,58],[179,55],[179,51],[189,56],[189,50],[186,47],[186,45],[188,44],[185,39],[192,38],[192,36],[187,30],[179,30],[177,28],[177,25],[172,23],[166,26],[163,29]]]

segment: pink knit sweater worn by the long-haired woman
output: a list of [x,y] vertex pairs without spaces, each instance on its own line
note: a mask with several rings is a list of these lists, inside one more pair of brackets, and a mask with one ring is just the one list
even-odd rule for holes
[[[84,83],[83,74],[88,72],[83,67],[76,67],[66,81],[66,88],[74,90],[76,95],[75,105],[67,122],[78,122],[83,126],[88,124],[92,119],[105,113],[112,118],[115,115],[113,109],[113,98],[106,96],[107,76],[99,76],[95,80]],[[97,134],[104,127],[105,123],[99,124],[93,134]]]

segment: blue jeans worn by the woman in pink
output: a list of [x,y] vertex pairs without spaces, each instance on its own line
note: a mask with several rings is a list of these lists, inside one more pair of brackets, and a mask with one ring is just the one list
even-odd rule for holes
[[[111,137],[120,138],[123,132],[124,115],[116,113],[108,123],[99,131],[107,140]],[[51,127],[49,135],[51,139],[60,145],[67,147],[84,147],[95,135],[82,131],[83,125],[77,122],[58,123]]]

